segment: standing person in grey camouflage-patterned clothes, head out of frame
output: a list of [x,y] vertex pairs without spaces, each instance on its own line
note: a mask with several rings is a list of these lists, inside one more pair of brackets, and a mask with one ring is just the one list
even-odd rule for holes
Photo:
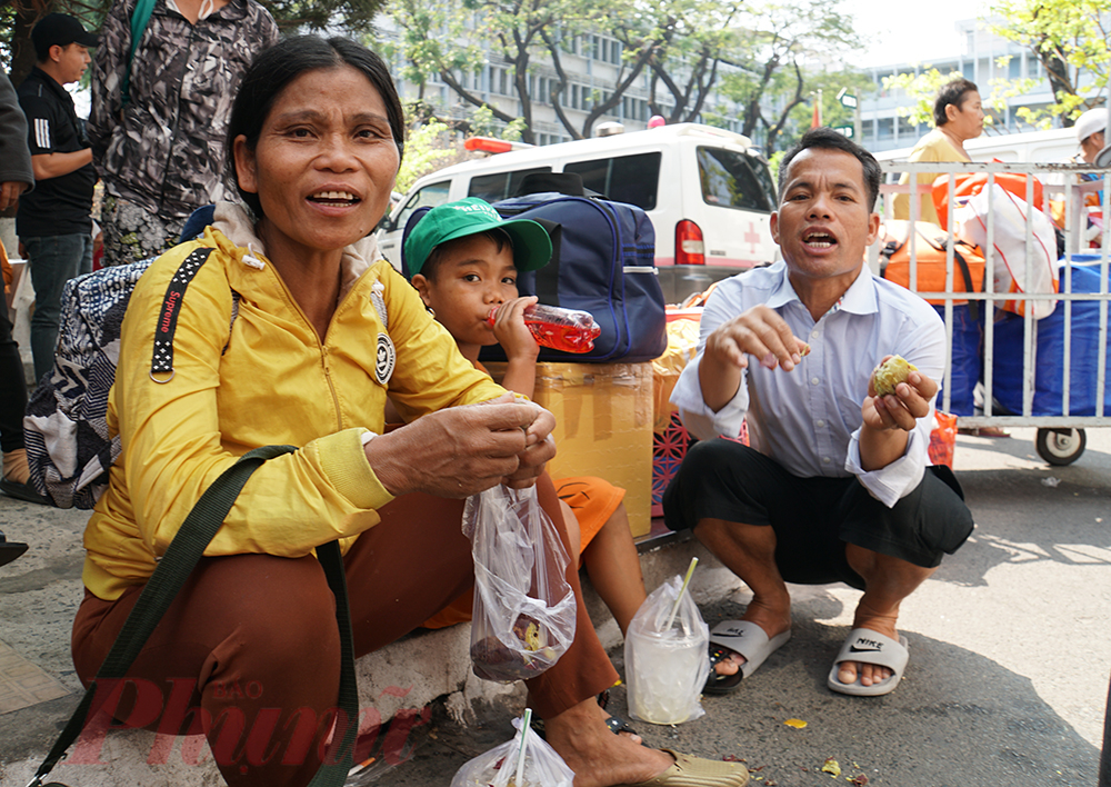
[[207,16],[199,2],[156,0],[131,62],[126,107],[136,0],[117,0],[100,31],[88,132],[106,187],[104,265],[162,252],[178,242],[194,209],[226,199],[231,102],[253,57],[278,41],[278,26],[256,0],[206,0]]

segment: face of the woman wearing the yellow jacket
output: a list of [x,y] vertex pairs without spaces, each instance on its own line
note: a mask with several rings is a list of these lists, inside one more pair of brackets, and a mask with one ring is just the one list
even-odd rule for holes
[[350,66],[307,71],[274,101],[254,150],[234,142],[242,189],[262,203],[267,253],[341,249],[386,213],[400,158],[386,102]]

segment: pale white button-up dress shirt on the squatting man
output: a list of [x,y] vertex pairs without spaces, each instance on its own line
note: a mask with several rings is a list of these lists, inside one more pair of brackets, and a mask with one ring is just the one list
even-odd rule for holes
[[[750,356],[737,395],[717,412],[707,407],[699,366],[707,337],[754,306],[774,309],[810,355],[792,371],[761,366]],[[900,355],[939,381],[945,365],[945,328],[924,300],[861,268],[844,296],[815,323],[799,300],[782,261],[718,285],[702,312],[698,353],[671,395],[687,429],[699,439],[737,437],[748,418],[749,440],[799,477],[854,475],[889,508],[922,480],[933,409],[920,418],[903,456],[865,472],[860,466],[861,406],[872,370]]]

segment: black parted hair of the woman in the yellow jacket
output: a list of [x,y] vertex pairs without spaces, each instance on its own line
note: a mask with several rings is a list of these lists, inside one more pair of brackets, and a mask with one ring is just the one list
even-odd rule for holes
[[242,135],[247,138],[247,147],[254,150],[270,110],[290,82],[308,71],[329,70],[341,66],[350,66],[361,72],[382,97],[393,141],[398,145],[398,161],[401,161],[406,140],[404,114],[386,62],[362,44],[346,38],[327,40],[319,36],[287,38],[259,52],[247,70],[239,86],[236,102],[231,106],[228,137],[224,140],[229,178],[236,183],[239,196],[256,216],[262,216],[262,203],[258,195],[248,193],[239,187],[239,177],[236,172],[236,138]]

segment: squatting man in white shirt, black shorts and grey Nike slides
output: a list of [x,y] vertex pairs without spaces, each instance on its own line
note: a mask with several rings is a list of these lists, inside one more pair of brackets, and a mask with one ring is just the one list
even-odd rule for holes
[[[718,285],[671,398],[702,442],[664,496],[668,526],[692,528],[753,592],[711,635],[711,694],[790,638],[785,582],[832,581],[864,594],[829,687],[891,691],[907,665],[900,602],[972,531],[952,472],[928,467],[944,326],[863,265],[879,183],[875,159],[828,128],[787,153],[771,215],[783,261]],[[918,370],[877,397],[872,371],[892,355]],[[751,448],[735,439],[745,420]]]

